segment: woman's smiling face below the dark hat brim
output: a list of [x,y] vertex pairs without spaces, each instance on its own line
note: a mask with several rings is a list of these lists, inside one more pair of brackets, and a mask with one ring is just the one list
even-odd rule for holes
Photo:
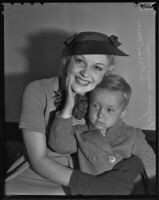
[[101,82],[108,71],[109,59],[106,55],[75,55],[72,56],[67,74],[72,76],[72,90],[85,94],[93,90]]

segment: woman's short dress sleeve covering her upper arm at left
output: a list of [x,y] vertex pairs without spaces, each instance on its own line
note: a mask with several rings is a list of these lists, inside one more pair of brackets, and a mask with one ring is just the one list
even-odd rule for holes
[[45,133],[45,105],[45,93],[42,91],[39,82],[29,83],[23,92],[19,128]]

